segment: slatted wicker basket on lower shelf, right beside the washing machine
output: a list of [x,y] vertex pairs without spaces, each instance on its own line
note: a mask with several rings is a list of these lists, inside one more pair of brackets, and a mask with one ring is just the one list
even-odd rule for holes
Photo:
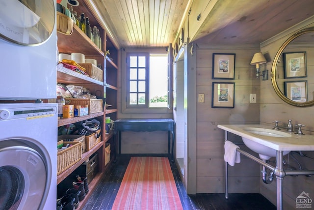
[[[64,142],[68,144],[69,142]],[[58,152],[57,156],[57,175],[61,174],[82,158],[82,143],[71,142],[72,146]]]

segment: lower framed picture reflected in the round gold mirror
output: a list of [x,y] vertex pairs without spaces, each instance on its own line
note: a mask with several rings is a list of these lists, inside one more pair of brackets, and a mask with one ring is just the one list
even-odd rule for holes
[[291,81],[285,82],[285,95],[292,101],[307,102],[308,101],[308,82]]

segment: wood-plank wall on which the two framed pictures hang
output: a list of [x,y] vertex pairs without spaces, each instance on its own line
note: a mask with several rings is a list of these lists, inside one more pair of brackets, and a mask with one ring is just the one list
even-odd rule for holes
[[[255,77],[255,66],[250,65],[260,46],[254,45],[208,45],[197,43],[196,47],[196,95],[205,94],[205,103],[197,103],[196,121],[196,192],[224,193],[224,140],[225,133],[217,124],[259,123],[260,79]],[[235,79],[211,79],[212,54],[235,53]],[[212,82],[235,82],[235,108],[211,108]],[[250,103],[250,93],[257,93],[257,103]],[[233,141],[241,142],[230,135]],[[247,150],[244,145],[241,149]],[[231,193],[259,193],[260,167],[254,161],[241,156],[241,163],[229,167],[229,190]]]

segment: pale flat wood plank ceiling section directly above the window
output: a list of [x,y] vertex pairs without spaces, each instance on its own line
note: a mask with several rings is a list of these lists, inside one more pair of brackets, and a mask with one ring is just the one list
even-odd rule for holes
[[163,47],[176,35],[187,1],[103,0],[103,5],[121,46]]

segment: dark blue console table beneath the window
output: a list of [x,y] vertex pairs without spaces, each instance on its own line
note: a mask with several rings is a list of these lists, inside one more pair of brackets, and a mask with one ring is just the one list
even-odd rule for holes
[[168,154],[170,152],[170,133],[172,133],[171,160],[175,142],[175,121],[172,119],[119,119],[114,121],[114,133],[119,136],[121,154],[121,131],[168,131]]

